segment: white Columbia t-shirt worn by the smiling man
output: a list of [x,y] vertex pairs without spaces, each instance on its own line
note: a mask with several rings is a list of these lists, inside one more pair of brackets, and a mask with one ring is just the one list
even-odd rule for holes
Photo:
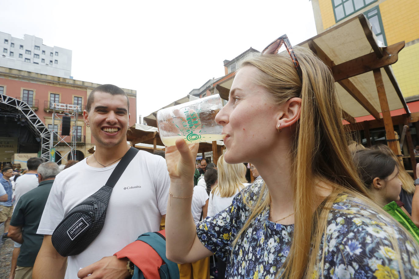
[[[94,168],[86,159],[60,172],[54,180],[37,233],[52,235],[63,217],[100,189],[117,164]],[[139,151],[116,182],[106,212],[105,225],[85,251],[69,256],[65,279],[76,279],[80,268],[99,261],[135,241],[158,231],[166,214],[170,180],[163,157]]]

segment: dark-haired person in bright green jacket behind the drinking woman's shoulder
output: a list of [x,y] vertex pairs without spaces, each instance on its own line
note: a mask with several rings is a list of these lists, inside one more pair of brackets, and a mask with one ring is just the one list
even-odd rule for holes
[[398,164],[388,154],[379,150],[358,150],[352,156],[358,174],[375,202],[405,227],[419,243],[419,228],[412,222],[411,216],[403,211],[400,202],[402,182],[398,178]]

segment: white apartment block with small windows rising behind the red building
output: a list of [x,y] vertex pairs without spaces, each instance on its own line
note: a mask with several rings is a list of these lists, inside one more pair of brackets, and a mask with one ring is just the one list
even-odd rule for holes
[[15,38],[0,32],[0,67],[71,78],[70,49],[46,46],[36,36]]

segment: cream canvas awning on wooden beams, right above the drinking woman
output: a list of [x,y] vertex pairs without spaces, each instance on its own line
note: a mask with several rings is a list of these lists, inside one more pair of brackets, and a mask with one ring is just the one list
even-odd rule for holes
[[304,41],[332,70],[341,106],[353,118],[372,115],[382,118],[373,69],[380,69],[389,110],[409,113],[390,64],[398,59],[404,42],[385,47],[360,14]]

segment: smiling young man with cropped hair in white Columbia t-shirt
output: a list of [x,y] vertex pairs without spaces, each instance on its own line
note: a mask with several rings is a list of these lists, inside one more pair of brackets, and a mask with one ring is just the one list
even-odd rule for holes
[[96,140],[96,151],[63,170],[54,181],[38,228],[45,236],[34,266],[35,279],[64,278],[64,273],[66,279],[88,274],[91,278],[126,278],[128,259],[111,255],[138,235],[158,231],[166,214],[170,184],[166,162],[161,156],[139,151],[115,184],[101,233],[85,251],[69,256],[65,269],[66,258],[52,246],[51,235],[75,205],[106,183],[128,151],[128,97],[114,85],[98,86],[88,97],[83,118]]

